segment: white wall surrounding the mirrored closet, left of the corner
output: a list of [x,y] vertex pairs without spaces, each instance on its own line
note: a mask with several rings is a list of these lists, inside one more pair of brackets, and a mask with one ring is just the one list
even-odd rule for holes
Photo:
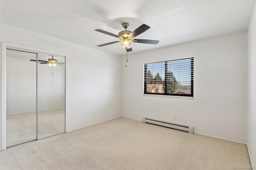
[[68,55],[68,131],[120,116],[119,56],[5,24],[0,31],[2,42]]

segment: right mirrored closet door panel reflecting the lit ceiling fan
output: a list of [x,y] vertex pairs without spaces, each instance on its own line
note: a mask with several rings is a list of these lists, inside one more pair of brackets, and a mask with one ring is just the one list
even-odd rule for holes
[[65,132],[65,58],[38,54],[38,139]]

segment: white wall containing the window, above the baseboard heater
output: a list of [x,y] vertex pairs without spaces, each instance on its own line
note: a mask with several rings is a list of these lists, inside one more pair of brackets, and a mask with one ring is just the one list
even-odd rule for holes
[[[194,126],[198,134],[246,143],[246,40],[246,32],[240,32],[128,53],[127,67],[123,56],[122,116]],[[194,99],[143,96],[144,62],[188,55],[194,55]]]

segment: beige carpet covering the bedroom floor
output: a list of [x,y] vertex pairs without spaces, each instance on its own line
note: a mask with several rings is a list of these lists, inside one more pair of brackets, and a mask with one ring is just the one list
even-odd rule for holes
[[1,170],[230,170],[250,165],[246,145],[127,118],[14,146]]

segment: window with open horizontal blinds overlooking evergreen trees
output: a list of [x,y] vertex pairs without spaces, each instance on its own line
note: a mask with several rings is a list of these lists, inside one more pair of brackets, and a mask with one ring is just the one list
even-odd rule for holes
[[144,94],[193,97],[194,58],[144,64]]

